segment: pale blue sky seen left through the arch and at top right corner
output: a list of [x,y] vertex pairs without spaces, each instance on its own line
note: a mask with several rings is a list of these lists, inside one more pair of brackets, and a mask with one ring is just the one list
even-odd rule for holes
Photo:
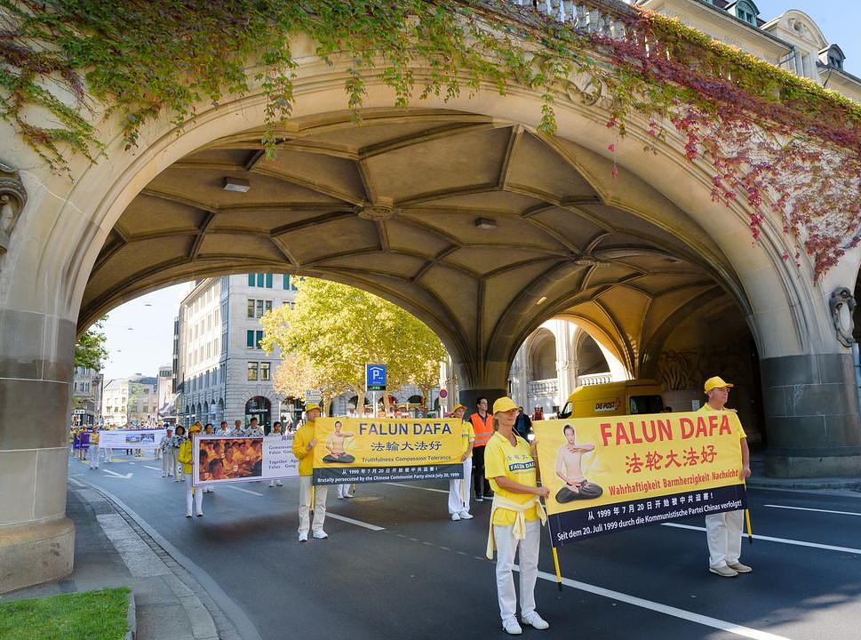
[[[840,45],[846,54],[845,70],[861,76],[861,23],[859,0],[756,0],[762,20],[777,18],[789,9],[807,13],[829,43]],[[186,291],[177,285],[147,294],[110,313],[106,332],[110,359],[105,375],[122,378],[132,373],[155,375],[161,364],[170,364],[173,348],[173,316]],[[131,327],[131,330],[130,330]]]

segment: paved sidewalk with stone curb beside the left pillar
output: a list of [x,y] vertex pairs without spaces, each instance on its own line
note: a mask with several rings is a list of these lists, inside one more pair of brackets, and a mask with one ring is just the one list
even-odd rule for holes
[[138,640],[242,640],[199,582],[100,492],[70,479],[66,512],[76,526],[75,570],[0,602],[128,586]]

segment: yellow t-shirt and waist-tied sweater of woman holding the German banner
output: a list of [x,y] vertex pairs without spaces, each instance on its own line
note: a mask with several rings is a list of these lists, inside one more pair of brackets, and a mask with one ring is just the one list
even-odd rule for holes
[[[490,436],[484,449],[484,476],[490,481],[490,488],[499,496],[522,504],[532,500],[534,496],[531,493],[514,493],[500,489],[496,480],[493,479],[498,476],[506,476],[516,483],[538,486],[535,476],[535,460],[532,460],[530,444],[521,436],[514,434],[514,437],[517,440],[516,446],[512,446],[505,436],[500,436],[498,433]],[[523,517],[527,521],[538,520],[535,508],[530,508],[523,514]],[[511,526],[516,519],[516,512],[511,509],[498,508],[493,514],[491,524]]]

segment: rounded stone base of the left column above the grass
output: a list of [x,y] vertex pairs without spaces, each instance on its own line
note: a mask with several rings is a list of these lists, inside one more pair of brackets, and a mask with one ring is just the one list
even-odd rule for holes
[[58,580],[74,565],[75,524],[68,517],[0,527],[0,593]]

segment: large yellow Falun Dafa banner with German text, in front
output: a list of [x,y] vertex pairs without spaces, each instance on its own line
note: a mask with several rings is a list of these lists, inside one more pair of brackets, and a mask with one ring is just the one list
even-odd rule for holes
[[[541,482],[554,544],[743,508],[734,412],[542,420]],[[561,536],[561,537],[560,537]]]

